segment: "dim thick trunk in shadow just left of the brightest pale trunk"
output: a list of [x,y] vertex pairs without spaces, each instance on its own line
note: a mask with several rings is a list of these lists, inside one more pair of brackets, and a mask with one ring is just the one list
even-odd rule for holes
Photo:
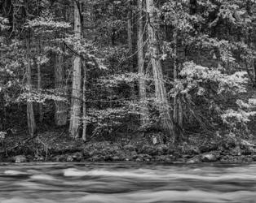
[[[64,83],[63,56],[61,53],[55,55],[55,90],[61,97],[66,96]],[[55,124],[64,126],[67,124],[68,114],[65,102],[55,102]]]

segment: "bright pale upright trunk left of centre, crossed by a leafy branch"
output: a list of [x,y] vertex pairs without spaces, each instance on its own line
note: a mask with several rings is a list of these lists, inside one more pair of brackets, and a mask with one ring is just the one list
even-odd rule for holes
[[[75,37],[79,41],[82,37],[82,22],[80,16],[80,3],[74,1],[74,32]],[[72,95],[71,95],[71,113],[69,132],[74,138],[78,137],[79,125],[81,119],[81,85],[82,85],[82,60],[80,56],[74,56],[73,60],[73,82],[72,82]]]

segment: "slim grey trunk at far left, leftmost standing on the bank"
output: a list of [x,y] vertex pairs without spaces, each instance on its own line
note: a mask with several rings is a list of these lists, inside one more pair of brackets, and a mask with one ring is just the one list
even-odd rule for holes
[[30,40],[29,38],[26,40],[26,46],[27,46],[27,89],[28,89],[28,97],[27,97],[27,119],[28,119],[28,129],[29,129],[29,135],[33,136],[36,132],[36,121],[34,118],[34,112],[33,112],[33,102],[30,101],[32,97],[32,80],[31,80],[31,55],[30,55]]

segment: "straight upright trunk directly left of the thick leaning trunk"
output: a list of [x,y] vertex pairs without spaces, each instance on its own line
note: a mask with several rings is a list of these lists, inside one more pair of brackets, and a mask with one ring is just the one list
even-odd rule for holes
[[137,31],[137,52],[138,52],[138,71],[139,71],[139,99],[140,121],[142,125],[148,123],[148,102],[146,100],[146,81],[144,79],[144,50],[143,50],[143,1],[137,0],[139,9],[138,14],[138,31]]

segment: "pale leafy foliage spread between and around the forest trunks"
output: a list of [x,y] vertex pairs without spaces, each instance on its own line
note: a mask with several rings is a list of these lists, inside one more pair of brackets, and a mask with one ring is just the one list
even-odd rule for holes
[[[90,132],[104,135],[126,131],[130,126],[133,131],[157,129],[157,109],[163,104],[155,98],[148,24],[157,29],[161,53],[154,57],[161,58],[165,74],[166,109],[173,113],[174,100],[179,98],[184,132],[242,129],[253,121],[255,102],[249,99],[252,93],[248,89],[256,84],[255,1],[163,0],[155,5],[156,22],[147,19],[143,11],[145,74],[137,70],[138,8],[134,1],[81,2],[82,39],[73,32],[71,5],[69,0],[33,0],[0,8],[0,122],[6,123],[0,131],[11,123],[12,107],[25,115],[27,102],[43,104],[44,116],[54,118],[56,103],[70,104],[75,56],[82,58],[82,74],[86,76],[86,101],[82,101],[86,116],[80,121],[86,120]],[[129,18],[131,50],[127,45]],[[58,56],[64,71],[61,91],[55,87]],[[31,89],[26,84],[29,65]],[[174,67],[178,68],[175,80]],[[141,80],[147,87],[145,98],[139,98]],[[139,123],[143,106],[149,112],[146,127]],[[10,116],[3,111],[11,112]],[[34,111],[38,118],[39,108]]]

